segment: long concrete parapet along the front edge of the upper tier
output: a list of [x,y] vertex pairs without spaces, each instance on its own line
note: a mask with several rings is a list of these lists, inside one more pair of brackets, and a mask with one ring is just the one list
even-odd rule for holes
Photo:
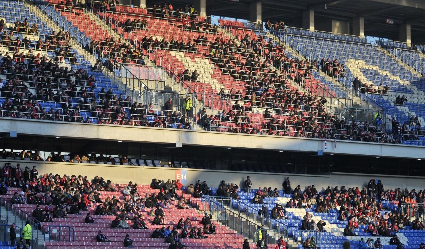
[[109,141],[133,141],[146,143],[181,142],[185,145],[208,147],[232,147],[265,150],[286,150],[325,153],[351,154],[363,156],[384,156],[398,158],[425,159],[425,147],[395,144],[379,144],[352,141],[324,141],[297,137],[267,135],[246,135],[234,133],[207,132],[202,130],[177,130],[163,128],[142,128],[106,124],[81,124],[55,121],[31,121],[25,119],[0,119],[0,132],[16,131],[17,135],[37,135],[47,137],[67,137],[76,139],[96,139]]

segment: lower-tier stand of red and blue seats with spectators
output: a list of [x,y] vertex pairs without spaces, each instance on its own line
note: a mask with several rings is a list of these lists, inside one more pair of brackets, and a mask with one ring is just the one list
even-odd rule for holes
[[[184,221],[186,217],[189,221],[181,221],[185,224],[183,226],[202,228],[203,217],[217,210],[216,207],[210,208],[215,205],[212,200],[220,198],[232,199],[228,204],[234,208],[233,212],[246,213],[248,218],[256,217],[257,222],[270,228],[286,229],[289,240],[298,242],[298,248],[303,248],[305,230],[309,230],[309,237],[316,237],[321,248],[339,248],[345,240],[351,241],[352,248],[358,248],[360,238],[376,241],[378,237],[383,248],[394,248],[390,245],[394,235],[405,248],[418,248],[423,242],[424,225],[417,217],[423,214],[424,190],[390,190],[385,188],[385,182],[375,179],[371,179],[367,186],[323,186],[317,190],[314,185],[293,188],[288,177],[282,190],[273,186],[274,189],[260,187],[245,192],[243,187],[246,186],[224,181],[215,188],[201,181],[184,187],[179,182],[157,179],[152,179],[150,185],[138,185],[132,182],[115,184],[98,176],[93,180],[81,175],[50,173],[39,176],[35,166],[16,170],[9,163],[1,172],[5,181],[1,182],[0,190],[6,189],[1,201],[11,202],[10,205],[16,207],[11,209],[13,212],[31,214],[41,222],[34,229],[40,226],[40,233],[49,236],[46,248],[122,247],[126,234],[137,247],[168,248],[165,238],[151,239],[158,227],[151,223],[155,222],[155,217],[160,217],[157,212],[161,212],[157,211],[157,204],[163,208],[165,217],[165,225],[161,224],[159,228],[170,226],[171,230],[180,226],[179,220],[183,218]],[[228,204],[224,202],[224,206]],[[93,223],[85,221],[87,213],[91,214]],[[143,220],[138,220],[138,215]],[[119,223],[121,226],[128,224],[130,228],[114,228],[118,223],[111,224],[117,216],[124,220]],[[136,222],[144,224],[147,229],[139,232],[133,227]],[[181,238],[180,241],[190,248],[241,247],[241,235],[219,225],[214,219],[212,222],[216,235],[204,233],[203,236],[208,238]],[[61,232],[57,230],[59,227]],[[96,242],[99,230],[111,242]],[[182,233],[180,229],[178,232]],[[51,241],[52,238],[58,241]]]

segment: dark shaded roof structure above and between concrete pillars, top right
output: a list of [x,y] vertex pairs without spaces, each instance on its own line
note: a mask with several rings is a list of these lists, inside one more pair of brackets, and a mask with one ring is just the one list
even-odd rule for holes
[[[181,0],[166,1],[182,4]],[[257,1],[206,0],[206,13],[249,19],[250,5]],[[283,20],[288,26],[301,28],[303,11],[314,10],[316,30],[331,31],[320,28],[320,23],[329,20],[348,22],[352,30],[353,18],[363,17],[365,35],[399,40],[400,25],[410,24],[412,42],[425,44],[425,0],[260,0],[260,2],[263,21]]]

